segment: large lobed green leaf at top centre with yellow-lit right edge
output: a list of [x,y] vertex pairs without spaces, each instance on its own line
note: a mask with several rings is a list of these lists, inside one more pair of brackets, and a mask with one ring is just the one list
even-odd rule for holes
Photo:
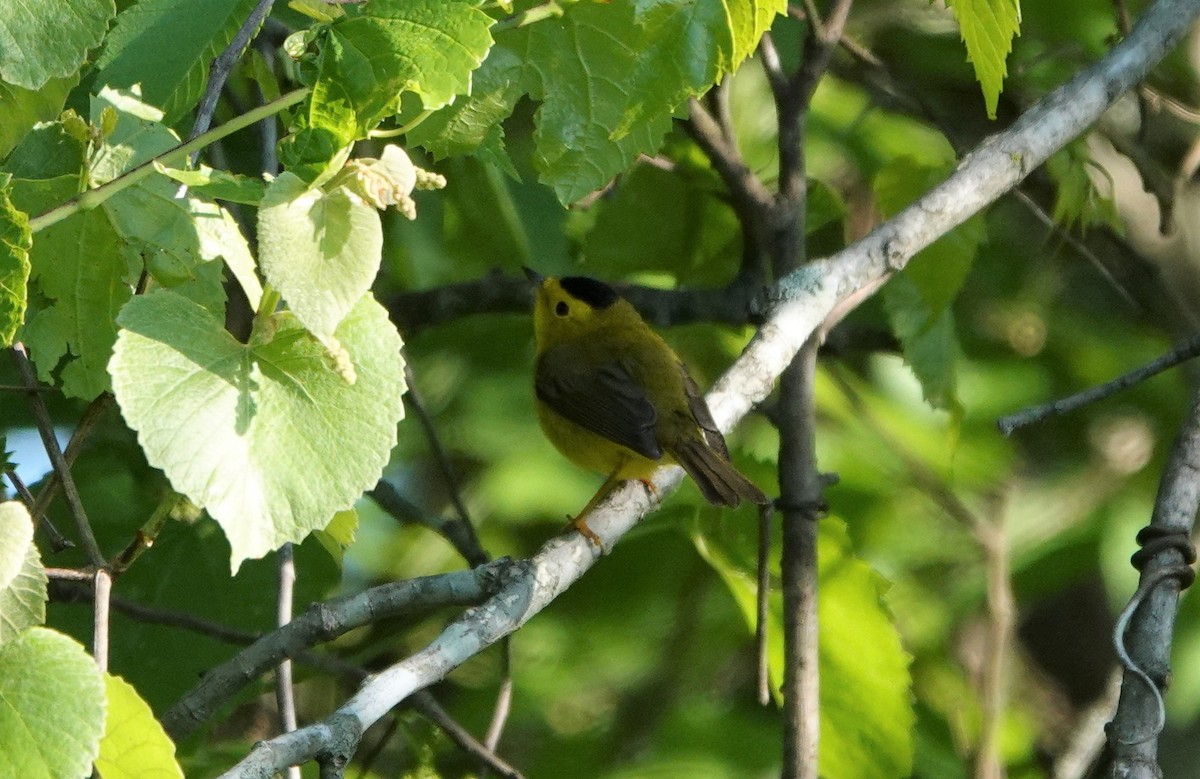
[[415,138],[438,154],[485,142],[494,154],[494,125],[528,94],[542,101],[535,132],[542,181],[574,202],[656,151],[672,112],[732,71],[785,7],[778,0],[572,4],[558,19],[498,34],[479,89]]

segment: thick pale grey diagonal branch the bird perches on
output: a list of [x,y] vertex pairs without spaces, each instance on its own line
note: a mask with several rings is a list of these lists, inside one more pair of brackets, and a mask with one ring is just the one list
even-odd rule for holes
[[[996,200],[1082,133],[1145,77],[1196,16],[1200,4],[1195,0],[1158,0],[1104,59],[1048,95],[1010,128],[985,140],[947,181],[853,246],[778,282],[772,316],[708,395],[719,425],[727,430],[767,396],[784,367],[842,298],[904,268],[916,252]],[[625,484],[596,507],[588,525],[611,547],[682,479],[678,467],[659,469],[653,478],[653,501],[641,485]],[[599,556],[596,547],[577,534],[552,539],[524,570],[481,606],[451,622],[426,648],[368,679],[325,720],[260,742],[226,775],[269,777],[318,754],[326,763],[348,760],[367,726],[415,690],[518,629]]]

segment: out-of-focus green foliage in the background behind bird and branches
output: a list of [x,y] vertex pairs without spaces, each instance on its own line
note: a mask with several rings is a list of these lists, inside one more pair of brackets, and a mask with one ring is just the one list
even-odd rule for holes
[[[919,196],[984,133],[1100,56],[1117,35],[1109,4],[1026,5],[998,95],[1000,119],[989,121],[946,8],[917,0],[856,4],[847,31],[880,64],[838,52],[815,95],[805,146],[810,254],[832,253]],[[596,4],[586,13],[590,19],[604,11],[605,4]],[[295,20],[287,11],[277,17]],[[794,61],[803,25],[780,18],[774,32],[785,62]],[[262,73],[245,66],[229,89],[250,94],[254,78]],[[1200,100],[1194,64],[1180,58],[1154,86],[1184,104]],[[773,185],[775,116],[758,64],[748,61],[726,89],[738,148]],[[516,276],[522,264],[672,288],[715,287],[736,275],[740,227],[719,176],[678,122],[658,116],[666,133],[662,151],[635,162],[586,205],[566,210],[554,188],[539,182],[547,166],[539,146],[545,131],[534,119],[538,102],[508,97],[511,115],[484,127],[474,156],[418,160],[444,174],[448,186],[414,194],[416,221],[384,218],[384,259],[373,287],[380,299],[497,270]],[[1170,136],[1147,154],[1164,169],[1178,168],[1178,149],[1194,143],[1194,126],[1168,125],[1163,114],[1145,121],[1151,134]],[[360,150],[366,154],[371,144]],[[235,136],[224,146],[232,168],[256,173],[252,136]],[[995,426],[1003,414],[1158,356],[1183,331],[1171,323],[1196,319],[1186,296],[1170,316],[1164,311],[1174,304],[1154,305],[1171,299],[1168,278],[1177,277],[1171,274],[1200,283],[1195,265],[1169,248],[1122,242],[1120,233],[1145,221],[1122,208],[1123,197],[1140,194],[1140,181],[1100,174],[1111,156],[1100,157],[1094,146],[1072,145],[1024,190],[1062,228],[1048,227],[1026,202],[1007,197],[916,258],[889,290],[830,336],[817,386],[820,467],[838,477],[827,491],[830,516],[821,526],[829,777],[972,775],[995,618],[980,528],[1001,539],[1015,599],[998,724],[1009,777],[1051,775],[1054,757],[1081,713],[1104,695],[1116,667],[1109,635],[1136,585],[1128,556],[1136,529],[1150,519],[1194,370],[1159,376],[1009,439]],[[467,148],[434,151],[461,155]],[[574,179],[557,185],[558,194],[581,193]],[[1088,247],[1117,246],[1141,281],[1130,287],[1129,276],[1102,271],[1108,257],[1097,257],[1102,250],[1081,253],[1079,244],[1064,240],[1062,229],[1075,227],[1088,228],[1086,235],[1072,233]],[[454,515],[451,495],[458,490],[492,556],[533,553],[563,532],[600,478],[576,469],[538,431],[528,316],[478,314],[403,335],[413,384],[455,483],[412,413],[400,426],[386,478],[436,516]],[[707,386],[752,329],[692,323],[664,335]],[[922,338],[928,349],[913,347]],[[18,383],[0,362],[0,384]],[[83,409],[61,394],[47,400],[64,426]],[[32,424],[16,396],[0,405],[0,430]],[[774,492],[778,436],[767,415],[745,420],[730,444],[738,467]],[[17,451],[11,461],[19,467],[28,457]],[[145,463],[114,408],[103,414],[73,473],[106,550],[127,544],[168,496],[162,474]],[[355,540],[341,569],[316,539],[298,547],[298,610],[371,583],[463,565],[430,531],[397,522],[366,498],[356,508]],[[71,527],[61,501],[49,515],[60,529]],[[529,622],[511,643],[515,697],[498,753],[530,779],[778,775],[780,717],[775,705],[755,702],[746,618],[755,521],[748,508],[714,511],[688,484]],[[85,564],[78,550],[42,553],[47,565]],[[229,575],[228,559],[228,543],[211,519],[172,520],[114,592],[246,631],[269,630],[275,557],[247,562],[236,576]],[[778,576],[773,582],[778,586]],[[70,600],[65,592],[59,598]],[[781,605],[778,598],[772,605],[778,684]],[[330,651],[379,669],[424,646],[448,617],[379,623],[337,640]],[[55,603],[49,624],[86,643],[91,611]],[[160,714],[234,652],[215,637],[148,624],[120,609],[112,635],[113,671]],[[1200,606],[1186,597],[1164,741],[1172,778],[1200,777],[1189,742],[1200,730],[1198,646]],[[433,693],[478,736],[487,730],[502,675],[493,649]],[[353,689],[304,667],[298,677],[302,721],[325,715]],[[270,684],[251,685],[216,726],[180,745],[187,775],[215,775],[276,731]],[[479,768],[409,711],[370,731],[360,755],[376,747],[365,775],[467,777]]]

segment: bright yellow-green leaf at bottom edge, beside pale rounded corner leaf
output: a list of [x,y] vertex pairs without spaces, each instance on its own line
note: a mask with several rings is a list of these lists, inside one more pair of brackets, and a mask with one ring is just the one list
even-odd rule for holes
[[175,744],[133,685],[104,675],[108,717],[96,772],[103,779],[182,779]]

